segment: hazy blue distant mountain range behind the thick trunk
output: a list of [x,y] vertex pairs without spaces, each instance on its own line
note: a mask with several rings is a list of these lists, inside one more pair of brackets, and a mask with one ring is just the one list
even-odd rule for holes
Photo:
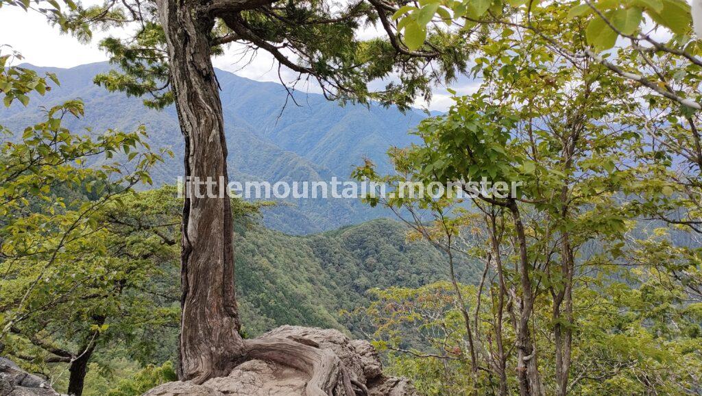
[[[105,131],[114,128],[133,130],[144,124],[152,147],[170,147],[173,159],[152,172],[154,182],[176,183],[183,174],[183,137],[175,109],[150,110],[140,98],[110,93],[93,84],[95,74],[112,68],[107,62],[70,69],[31,67],[38,72],[57,74],[61,85],[46,96],[34,95],[28,107],[13,106],[0,110],[0,121],[19,132],[41,118],[41,107],[81,98],[86,117],[69,120],[68,126]],[[408,131],[423,119],[418,111],[403,114],[376,105],[347,105],[326,100],[314,93],[294,93],[296,102],[287,100],[280,84],[253,81],[217,70],[222,91],[225,132],[231,180],[284,181],[345,180],[364,158],[390,171],[385,152],[390,146],[416,142]],[[275,230],[306,234],[331,230],[389,216],[382,209],[371,209],[350,199],[289,200],[267,211],[264,222]]]

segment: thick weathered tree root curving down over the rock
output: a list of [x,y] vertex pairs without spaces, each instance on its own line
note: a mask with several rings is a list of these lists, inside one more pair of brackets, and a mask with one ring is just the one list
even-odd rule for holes
[[[285,364],[310,375],[307,396],[355,396],[343,362],[333,352],[289,338],[261,337],[244,340],[246,359],[263,359]],[[360,394],[364,394],[362,388]]]

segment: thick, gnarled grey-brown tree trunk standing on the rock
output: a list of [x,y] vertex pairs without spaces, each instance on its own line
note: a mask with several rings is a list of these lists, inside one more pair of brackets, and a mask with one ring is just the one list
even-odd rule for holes
[[[228,184],[222,104],[211,62],[214,24],[196,1],[159,0],[180,128],[185,176]],[[234,294],[229,197],[185,188],[181,253],[182,317],[178,376],[202,383],[226,376],[244,357]],[[220,189],[216,189],[218,192]]]

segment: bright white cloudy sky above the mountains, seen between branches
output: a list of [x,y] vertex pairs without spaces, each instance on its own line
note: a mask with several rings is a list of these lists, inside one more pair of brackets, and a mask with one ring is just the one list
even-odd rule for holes
[[[91,4],[95,1],[84,1]],[[25,27],[32,26],[27,31]],[[359,37],[369,38],[379,34],[373,27],[359,32]],[[81,44],[74,37],[60,34],[57,27],[46,22],[44,16],[34,11],[23,11],[18,7],[4,7],[0,12],[0,44],[8,44],[24,56],[22,62],[37,66],[74,67],[91,62],[107,60],[107,55],[98,48],[100,39],[107,36],[121,36],[124,31],[112,29],[107,32],[94,32],[89,44]],[[258,51],[256,57],[249,62],[249,57],[242,59],[243,46],[233,44],[225,51],[225,55],[213,58],[213,64],[222,70],[233,72],[241,77],[257,81],[279,82],[277,64],[270,54]],[[6,51],[3,51],[6,52]],[[289,70],[282,72],[286,81],[291,81],[297,74]],[[459,79],[451,86],[459,94],[469,94],[477,91],[478,83],[468,78]],[[317,86],[298,85],[300,91],[319,93]],[[445,86],[436,86],[433,90],[431,103],[418,100],[415,106],[429,110],[446,111],[451,105],[451,95]]]

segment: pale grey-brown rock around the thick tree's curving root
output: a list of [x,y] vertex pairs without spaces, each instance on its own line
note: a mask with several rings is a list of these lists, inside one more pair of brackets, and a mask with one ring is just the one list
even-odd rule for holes
[[[300,326],[282,326],[261,338],[285,338],[312,348],[329,350],[340,359],[357,395],[415,396],[405,378],[386,377],[375,348],[362,340],[351,341],[340,331]],[[229,376],[212,378],[202,385],[171,382],[143,396],[295,396],[305,395],[310,375],[279,362],[252,359],[236,367]]]

